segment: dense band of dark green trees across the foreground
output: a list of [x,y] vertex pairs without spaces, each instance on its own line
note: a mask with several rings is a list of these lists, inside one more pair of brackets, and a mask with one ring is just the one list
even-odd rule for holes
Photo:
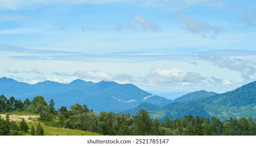
[[[234,119],[230,117],[221,122],[216,117],[209,119],[200,116],[185,116],[180,119],[166,117],[162,123],[158,119],[152,119],[145,109],[140,109],[134,116],[127,114],[115,114],[100,112],[95,113],[86,105],[74,104],[70,107],[62,106],[58,110],[54,108],[54,100],[49,104],[42,96],[37,96],[32,101],[24,102],[14,97],[7,99],[0,96],[0,113],[12,111],[39,114],[39,121],[52,127],[64,127],[101,133],[102,135],[256,135],[256,124],[250,117]],[[26,121],[16,123],[0,118],[0,135],[23,135],[30,132],[31,135],[44,135],[44,130],[37,125],[36,129],[28,129]]]

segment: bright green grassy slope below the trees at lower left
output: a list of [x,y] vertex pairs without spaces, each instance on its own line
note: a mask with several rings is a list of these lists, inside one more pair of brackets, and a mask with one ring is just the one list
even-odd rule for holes
[[[27,123],[29,129],[31,129],[32,125],[36,129],[38,123]],[[40,123],[42,128],[44,129],[45,136],[100,136],[99,133],[75,130],[75,129],[67,129],[67,128],[57,128],[46,126],[43,123]],[[27,134],[30,136],[30,134]]]

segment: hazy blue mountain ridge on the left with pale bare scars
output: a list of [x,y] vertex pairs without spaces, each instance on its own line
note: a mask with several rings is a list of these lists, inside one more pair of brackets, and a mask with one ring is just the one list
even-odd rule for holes
[[172,102],[166,98],[152,95],[133,84],[119,84],[113,81],[98,83],[74,80],[70,83],[44,81],[36,84],[18,82],[10,78],[0,78],[0,95],[14,96],[15,99],[33,99],[44,96],[46,101],[54,99],[55,107],[76,103],[86,104],[94,111],[120,112],[133,108],[141,103],[165,105]]

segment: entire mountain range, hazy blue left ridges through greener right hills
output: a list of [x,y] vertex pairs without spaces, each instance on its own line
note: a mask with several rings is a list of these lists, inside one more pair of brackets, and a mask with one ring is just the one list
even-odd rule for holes
[[147,109],[153,118],[160,121],[183,118],[185,115],[222,121],[229,117],[253,117],[256,119],[256,81],[226,93],[218,94],[205,90],[191,92],[169,100],[153,95],[133,84],[119,84],[113,81],[87,82],[80,79],[70,83],[44,81],[36,84],[0,78],[0,94],[24,101],[35,96],[44,96],[46,101],[54,99],[55,108],[76,103],[86,104],[95,112],[114,112],[134,115],[141,108]]

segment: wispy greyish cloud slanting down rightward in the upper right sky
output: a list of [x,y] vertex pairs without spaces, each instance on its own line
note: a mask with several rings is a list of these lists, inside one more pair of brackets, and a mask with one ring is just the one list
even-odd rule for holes
[[184,23],[184,28],[192,33],[200,34],[202,37],[216,38],[219,33],[225,32],[221,26],[210,25],[208,22],[202,22],[194,18],[177,13],[177,17]]

